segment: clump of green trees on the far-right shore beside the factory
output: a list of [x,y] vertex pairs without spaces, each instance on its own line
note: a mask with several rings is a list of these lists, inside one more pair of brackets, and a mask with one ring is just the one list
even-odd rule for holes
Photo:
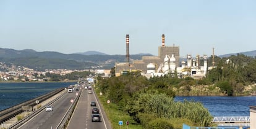
[[224,95],[251,95],[255,92],[256,60],[242,54],[218,58],[216,68],[202,79],[220,88]]

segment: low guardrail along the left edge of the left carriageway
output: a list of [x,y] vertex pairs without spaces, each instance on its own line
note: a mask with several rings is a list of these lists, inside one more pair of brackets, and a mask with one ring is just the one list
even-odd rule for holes
[[[60,90],[60,91],[59,91]],[[59,88],[58,91],[61,92],[62,90],[64,90],[64,88]],[[56,91],[57,92],[57,91]],[[57,92],[57,93],[59,93]],[[57,93],[55,93],[54,95],[56,95]],[[65,95],[65,93],[63,94]],[[46,105],[51,105],[52,103],[54,103],[55,101],[59,100],[59,98],[61,98],[63,95],[58,96],[58,98],[55,98],[53,101],[49,102]],[[53,96],[53,95],[51,95]],[[27,115],[25,118],[23,118],[22,120],[20,120],[19,122],[14,123],[13,125],[11,125],[11,127],[9,127],[8,129],[14,129],[14,128],[18,128],[20,127],[20,125],[22,125],[23,123],[27,122],[28,120],[32,119],[32,117],[34,117],[36,114],[40,113],[41,111],[43,111],[45,109],[45,106],[42,106],[41,108],[39,108],[38,110],[36,110],[35,112],[33,112],[32,114]]]

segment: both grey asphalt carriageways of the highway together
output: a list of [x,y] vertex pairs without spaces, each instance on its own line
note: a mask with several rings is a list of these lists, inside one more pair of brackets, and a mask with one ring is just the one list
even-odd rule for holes
[[[96,95],[92,89],[92,93],[89,94],[88,90],[80,88],[79,92],[80,98],[78,100],[77,106],[69,120],[67,129],[111,129],[111,124],[106,117],[105,111],[100,106],[100,103],[96,99]],[[36,114],[35,117],[24,123],[19,129],[35,128],[35,129],[52,129],[57,128],[62,118],[71,106],[70,100],[74,100],[76,97],[76,91],[72,93],[65,93],[58,101],[51,104],[53,106],[53,111],[46,112],[45,109],[40,113]],[[96,102],[96,108],[100,109],[101,122],[92,122],[92,108],[90,102]]]

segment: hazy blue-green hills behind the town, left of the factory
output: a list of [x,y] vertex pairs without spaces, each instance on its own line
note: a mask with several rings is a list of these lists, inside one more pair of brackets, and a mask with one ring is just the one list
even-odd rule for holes
[[[132,60],[141,60],[142,55],[130,55]],[[98,67],[110,69],[115,62],[126,61],[125,55],[82,55],[59,52],[36,52],[35,50],[14,50],[0,48],[0,61],[25,66],[38,71],[45,69],[88,69]]]

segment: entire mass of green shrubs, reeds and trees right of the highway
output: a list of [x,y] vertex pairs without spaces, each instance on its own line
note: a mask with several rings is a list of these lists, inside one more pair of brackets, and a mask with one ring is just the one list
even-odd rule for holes
[[[114,69],[111,69],[114,73]],[[119,77],[97,78],[96,92],[113,128],[129,120],[129,128],[209,127],[213,117],[195,101],[176,102],[176,95],[251,95],[256,91],[256,60],[244,55],[217,58],[216,66],[203,79],[173,75],[146,79],[140,71]],[[110,104],[106,104],[110,100]]]

